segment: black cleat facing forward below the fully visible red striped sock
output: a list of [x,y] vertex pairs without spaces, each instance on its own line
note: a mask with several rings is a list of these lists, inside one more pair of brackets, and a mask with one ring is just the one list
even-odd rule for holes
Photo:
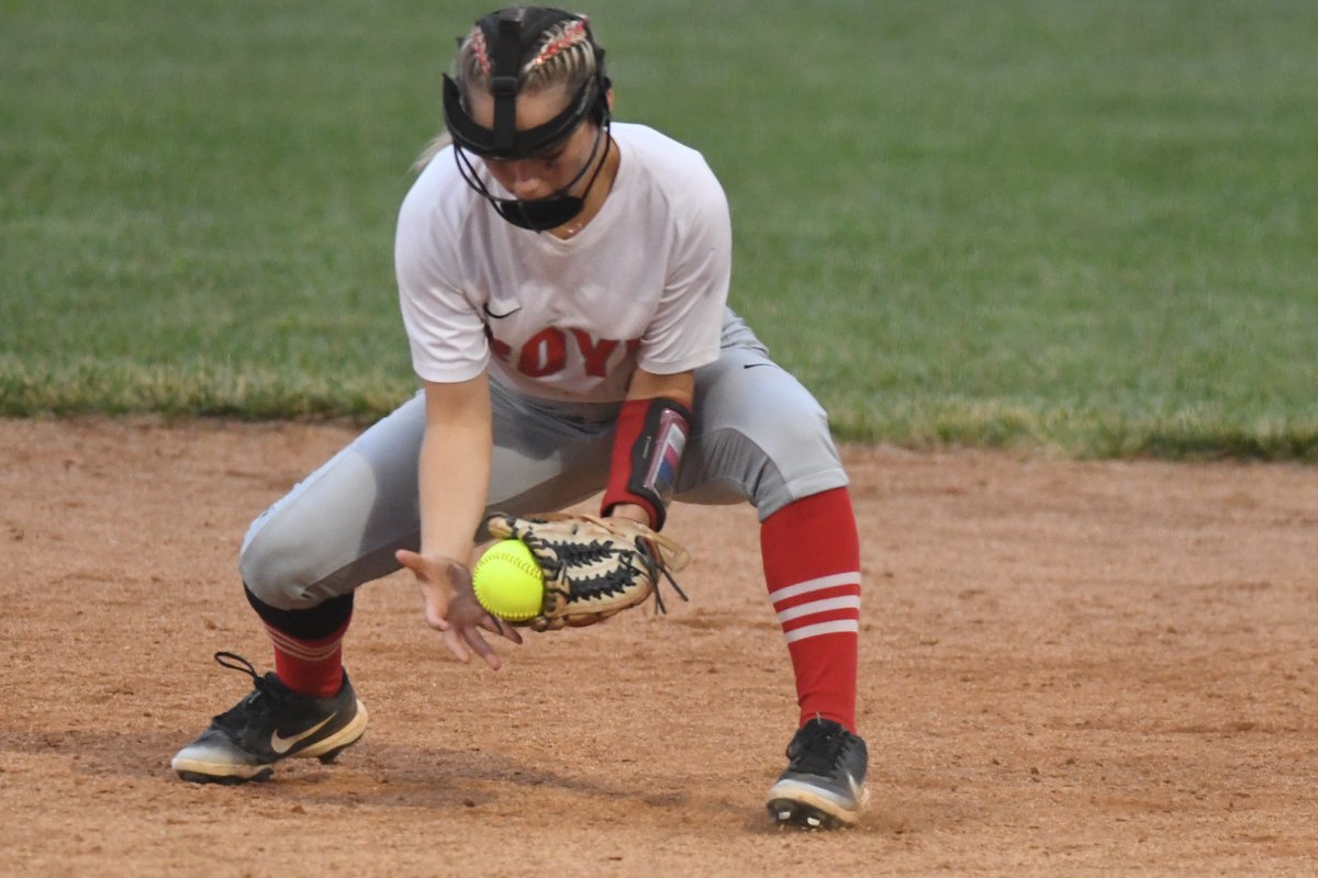
[[787,745],[787,770],[768,791],[774,823],[805,829],[855,825],[865,808],[865,741],[838,723],[815,717]]

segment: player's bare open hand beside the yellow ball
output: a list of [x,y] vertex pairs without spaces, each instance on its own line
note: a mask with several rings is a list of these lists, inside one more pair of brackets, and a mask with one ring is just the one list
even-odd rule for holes
[[399,549],[394,557],[416,577],[426,624],[442,633],[444,646],[453,658],[467,663],[474,652],[490,669],[498,670],[498,654],[485,641],[482,632],[498,634],[514,644],[522,642],[522,634],[506,621],[485,612],[472,592],[471,571],[448,558],[431,558],[406,549]]

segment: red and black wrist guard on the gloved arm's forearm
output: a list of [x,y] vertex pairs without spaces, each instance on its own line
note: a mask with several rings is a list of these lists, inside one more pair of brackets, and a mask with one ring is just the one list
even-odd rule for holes
[[689,434],[691,412],[684,405],[662,396],[623,401],[600,512],[635,503],[648,513],[651,528],[663,528]]

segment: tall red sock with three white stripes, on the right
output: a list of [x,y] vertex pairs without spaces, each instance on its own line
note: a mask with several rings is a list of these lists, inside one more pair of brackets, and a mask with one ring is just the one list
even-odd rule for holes
[[796,670],[800,723],[855,732],[861,546],[846,488],[815,494],[764,519],[764,579]]

